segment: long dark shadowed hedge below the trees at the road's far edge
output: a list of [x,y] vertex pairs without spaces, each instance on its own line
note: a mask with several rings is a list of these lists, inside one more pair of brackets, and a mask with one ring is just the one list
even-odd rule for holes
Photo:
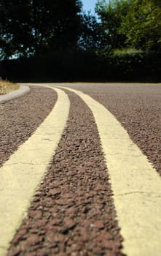
[[16,82],[161,82],[161,53],[59,51],[4,60],[0,77]]

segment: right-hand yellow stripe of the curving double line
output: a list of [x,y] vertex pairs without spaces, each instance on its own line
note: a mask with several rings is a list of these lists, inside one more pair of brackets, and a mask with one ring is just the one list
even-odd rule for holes
[[123,252],[128,256],[160,256],[160,176],[109,110],[81,91],[64,89],[79,95],[93,112],[125,239]]

